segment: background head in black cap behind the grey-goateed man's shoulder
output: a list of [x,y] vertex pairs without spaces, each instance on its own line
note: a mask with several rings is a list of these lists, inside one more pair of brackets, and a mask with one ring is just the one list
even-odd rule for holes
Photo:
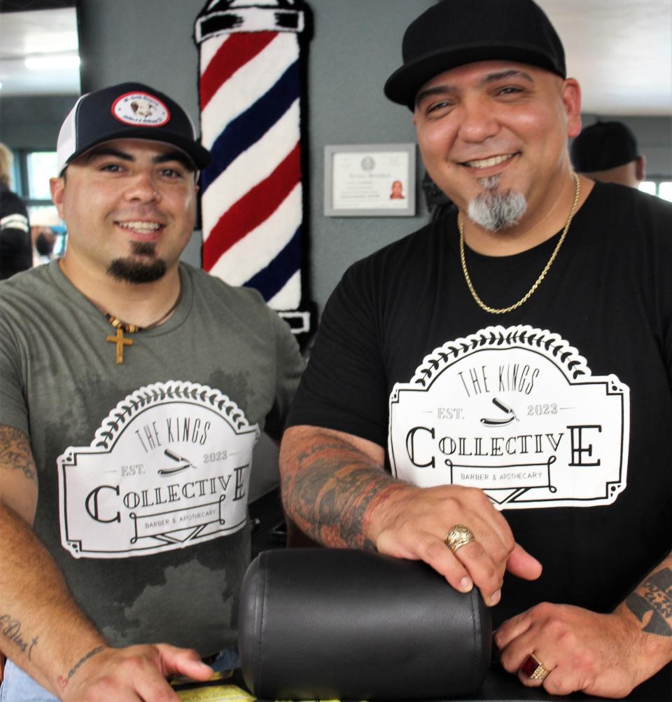
[[597,121],[582,129],[570,148],[577,173],[603,183],[639,187],[644,157],[631,128],[619,121]]

